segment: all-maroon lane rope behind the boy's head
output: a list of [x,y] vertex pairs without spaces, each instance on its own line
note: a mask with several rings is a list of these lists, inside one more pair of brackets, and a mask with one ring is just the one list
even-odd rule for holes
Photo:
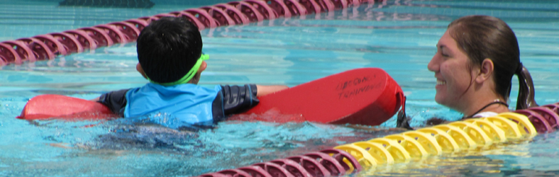
[[[379,0],[377,0],[379,1]],[[382,0],[385,1],[385,0]],[[140,31],[164,16],[187,18],[199,30],[223,25],[240,25],[280,17],[305,16],[310,13],[336,11],[375,0],[245,0],[226,4],[190,8],[92,27],[48,33],[31,38],[0,42],[0,67],[37,60],[54,59],[57,55],[94,50],[97,47],[133,42]]]

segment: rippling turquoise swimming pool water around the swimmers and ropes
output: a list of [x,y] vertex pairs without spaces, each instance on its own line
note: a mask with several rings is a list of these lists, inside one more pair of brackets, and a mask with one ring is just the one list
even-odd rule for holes
[[[0,40],[122,21],[195,6],[158,2],[150,9],[57,7],[59,1],[2,1]],[[207,4],[206,4],[207,3]],[[28,10],[31,8],[31,10]],[[25,11],[21,10],[25,9]],[[502,18],[519,38],[541,105],[559,102],[559,3],[550,1],[387,1],[316,16],[280,18],[201,31],[211,55],[201,84],[297,84],[358,67],[386,70],[408,95],[421,126],[460,115],[433,101],[426,64],[446,25],[468,14]],[[21,11],[25,13],[21,13]],[[0,176],[193,176],[383,137],[389,130],[315,123],[221,122],[199,134],[128,122],[16,120],[28,98],[58,93],[93,98],[141,86],[134,44],[103,47],[0,70]],[[516,86],[516,81],[513,82]],[[511,93],[515,105],[516,87]],[[389,120],[384,127],[392,127]],[[365,176],[544,176],[558,173],[557,133],[479,152],[379,166]],[[233,156],[233,158],[231,158]]]

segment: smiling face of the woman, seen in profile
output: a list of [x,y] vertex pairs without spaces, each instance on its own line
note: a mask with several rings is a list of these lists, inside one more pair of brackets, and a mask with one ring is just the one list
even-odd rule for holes
[[473,79],[469,63],[470,59],[446,30],[438,40],[435,56],[427,65],[429,71],[435,72],[437,79],[437,103],[459,111],[463,109],[463,97]]

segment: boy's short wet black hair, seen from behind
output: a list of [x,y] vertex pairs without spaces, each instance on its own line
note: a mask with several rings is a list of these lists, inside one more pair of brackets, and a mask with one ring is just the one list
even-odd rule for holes
[[201,56],[202,39],[186,18],[163,17],[146,26],[137,40],[138,62],[157,83],[181,79]]

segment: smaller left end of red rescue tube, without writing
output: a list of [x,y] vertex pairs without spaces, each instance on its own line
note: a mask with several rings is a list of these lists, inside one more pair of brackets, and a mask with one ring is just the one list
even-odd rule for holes
[[17,118],[24,120],[45,120],[49,118],[107,120],[117,117],[101,103],[69,96],[46,94],[31,98]]

